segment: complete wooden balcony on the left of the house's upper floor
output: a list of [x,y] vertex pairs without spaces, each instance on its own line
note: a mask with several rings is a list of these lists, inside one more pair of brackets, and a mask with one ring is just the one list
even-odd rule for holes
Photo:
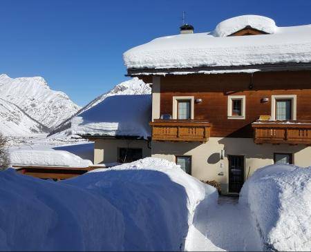
[[209,122],[202,120],[163,120],[150,123],[153,141],[207,142]]

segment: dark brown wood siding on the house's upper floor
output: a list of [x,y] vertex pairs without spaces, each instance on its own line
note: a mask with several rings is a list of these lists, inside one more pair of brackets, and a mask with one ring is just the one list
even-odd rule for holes
[[[211,123],[211,137],[253,137],[252,122],[271,115],[272,95],[297,96],[297,120],[311,120],[311,72],[167,75],[161,77],[160,115],[173,114],[173,96],[194,96],[194,119]],[[245,95],[245,119],[227,118],[228,95]],[[262,98],[269,98],[261,103]]]

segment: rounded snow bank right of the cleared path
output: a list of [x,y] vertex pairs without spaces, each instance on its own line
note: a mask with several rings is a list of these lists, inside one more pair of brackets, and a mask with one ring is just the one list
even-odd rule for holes
[[311,168],[261,168],[244,184],[239,202],[249,205],[265,249],[310,251]]

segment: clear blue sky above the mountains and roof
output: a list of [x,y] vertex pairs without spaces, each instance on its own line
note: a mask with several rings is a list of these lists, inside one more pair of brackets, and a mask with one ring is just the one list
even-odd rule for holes
[[311,1],[0,0],[0,73],[42,76],[83,106],[128,79],[122,53],[177,34],[182,11],[195,32],[241,14],[278,26],[311,23]]

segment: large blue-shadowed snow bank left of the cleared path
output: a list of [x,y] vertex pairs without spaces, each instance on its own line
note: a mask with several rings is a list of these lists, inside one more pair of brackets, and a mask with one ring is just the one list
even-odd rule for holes
[[196,206],[215,193],[154,158],[62,182],[9,170],[0,183],[2,250],[180,251]]

